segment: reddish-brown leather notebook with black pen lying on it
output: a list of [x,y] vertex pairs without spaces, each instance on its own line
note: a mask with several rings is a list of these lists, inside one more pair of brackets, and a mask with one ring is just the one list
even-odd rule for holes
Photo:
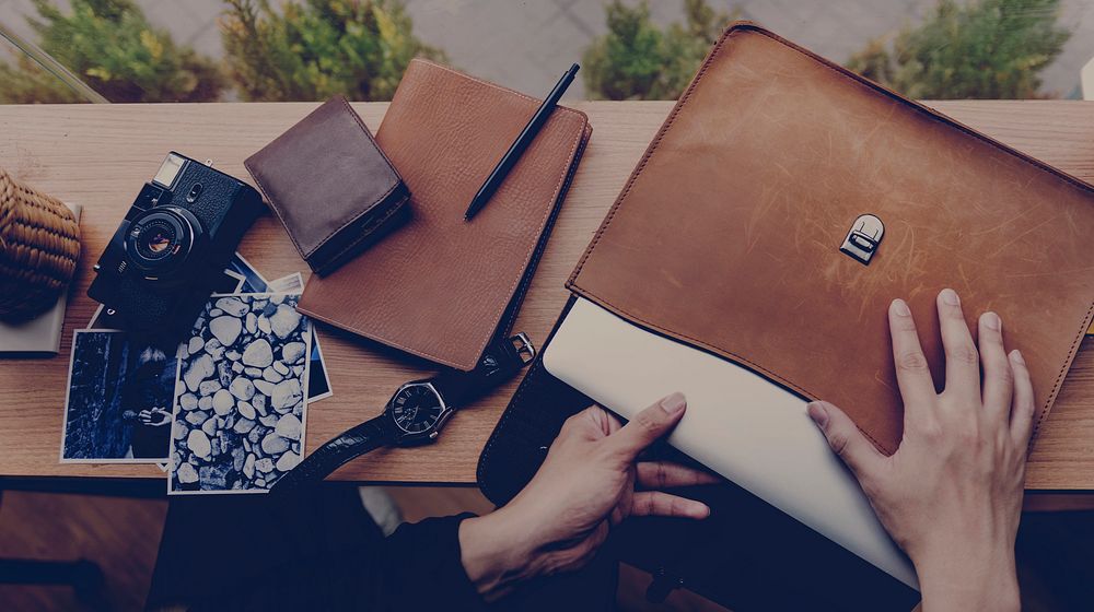
[[469,370],[512,325],[585,142],[559,106],[490,202],[464,211],[539,101],[414,60],[376,133],[410,190],[411,219],[334,273],[312,276],[300,310]]

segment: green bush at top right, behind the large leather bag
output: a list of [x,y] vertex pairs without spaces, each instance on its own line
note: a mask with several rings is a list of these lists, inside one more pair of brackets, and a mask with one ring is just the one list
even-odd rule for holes
[[940,0],[887,48],[872,40],[847,67],[913,98],[1041,97],[1037,74],[1063,48],[1060,0]]

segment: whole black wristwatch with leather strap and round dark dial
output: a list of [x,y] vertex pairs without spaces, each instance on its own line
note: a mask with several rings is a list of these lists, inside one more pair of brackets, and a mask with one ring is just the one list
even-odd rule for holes
[[496,340],[470,372],[446,369],[426,380],[412,380],[387,400],[384,412],[324,444],[272,486],[284,493],[323,481],[341,464],[382,446],[414,446],[437,439],[456,409],[505,380],[536,356],[524,333]]

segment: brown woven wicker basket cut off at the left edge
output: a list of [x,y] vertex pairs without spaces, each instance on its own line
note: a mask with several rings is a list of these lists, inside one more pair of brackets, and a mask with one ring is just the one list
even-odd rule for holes
[[51,307],[79,257],[72,211],[0,168],[0,319],[27,319]]

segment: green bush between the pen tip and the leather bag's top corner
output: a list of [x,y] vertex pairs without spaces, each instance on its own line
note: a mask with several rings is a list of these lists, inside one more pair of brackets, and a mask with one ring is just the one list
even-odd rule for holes
[[706,0],[684,0],[686,22],[661,30],[650,21],[645,0],[633,8],[613,0],[605,10],[608,33],[593,40],[583,56],[585,89],[594,99],[679,97],[738,12],[714,12]]

